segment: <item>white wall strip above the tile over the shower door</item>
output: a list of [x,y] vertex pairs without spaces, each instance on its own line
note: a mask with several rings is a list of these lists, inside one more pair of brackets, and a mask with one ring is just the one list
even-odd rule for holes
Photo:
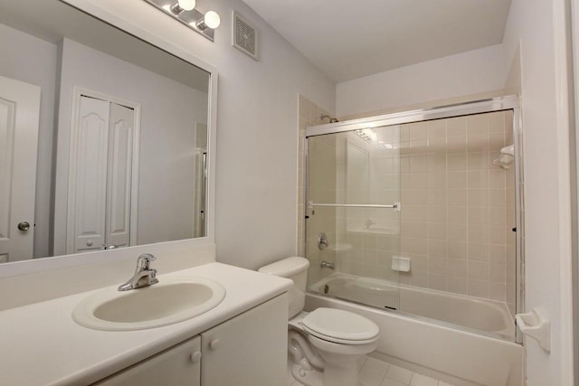
[[380,72],[337,85],[337,116],[479,94],[504,85],[502,44]]

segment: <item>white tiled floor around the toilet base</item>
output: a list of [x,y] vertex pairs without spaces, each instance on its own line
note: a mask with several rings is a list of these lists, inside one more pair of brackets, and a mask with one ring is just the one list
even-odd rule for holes
[[[311,377],[311,386],[321,386],[320,377]],[[313,381],[312,381],[313,380]],[[319,384],[317,384],[319,383]],[[296,381],[288,367],[288,386],[301,386],[302,383]],[[452,386],[450,383],[435,380],[411,372],[394,364],[382,362],[374,358],[365,358],[361,363],[360,386]]]

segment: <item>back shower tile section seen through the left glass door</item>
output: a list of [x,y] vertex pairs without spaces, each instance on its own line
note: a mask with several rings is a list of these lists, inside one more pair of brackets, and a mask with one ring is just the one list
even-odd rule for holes
[[[337,135],[337,202],[390,205],[400,201],[399,127],[380,127],[379,148],[353,132]],[[352,152],[367,164],[353,165]],[[352,174],[355,174],[354,176]],[[364,178],[365,177],[365,178]],[[390,208],[337,209],[337,270],[346,274],[398,281],[392,257],[400,256],[399,213]]]

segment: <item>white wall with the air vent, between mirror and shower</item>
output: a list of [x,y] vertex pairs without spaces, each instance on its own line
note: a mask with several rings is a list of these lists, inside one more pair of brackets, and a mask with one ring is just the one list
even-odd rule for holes
[[[240,0],[199,2],[222,17],[215,42],[142,0],[90,0],[219,72],[217,259],[258,268],[296,252],[298,95],[335,111],[335,85]],[[207,10],[208,8],[201,8]],[[231,45],[232,11],[260,32],[260,61]]]

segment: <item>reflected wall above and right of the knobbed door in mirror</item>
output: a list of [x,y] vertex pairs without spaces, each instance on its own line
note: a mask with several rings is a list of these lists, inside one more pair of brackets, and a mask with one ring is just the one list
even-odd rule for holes
[[43,258],[50,254],[52,137],[57,47],[51,42],[44,42],[32,35],[0,24],[0,52],[2,52],[0,75],[32,83],[41,88],[33,257]]

